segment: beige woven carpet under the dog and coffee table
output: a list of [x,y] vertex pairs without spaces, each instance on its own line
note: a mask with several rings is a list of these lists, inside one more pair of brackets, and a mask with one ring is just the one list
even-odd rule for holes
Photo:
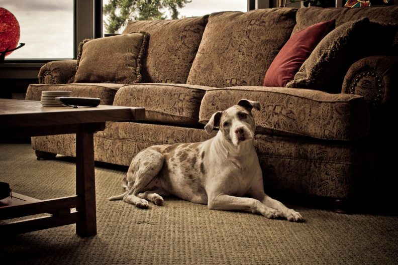
[[[29,144],[0,144],[0,181],[38,199],[74,194],[71,158],[37,161]],[[338,214],[305,205],[303,223],[166,198],[138,209],[122,201],[126,167],[95,167],[97,235],[75,225],[0,235],[3,264],[393,264],[398,263],[398,217]]]

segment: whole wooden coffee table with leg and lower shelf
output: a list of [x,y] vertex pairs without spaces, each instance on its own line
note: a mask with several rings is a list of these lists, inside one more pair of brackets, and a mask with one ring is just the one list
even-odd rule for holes
[[[0,99],[0,137],[32,137],[76,134],[76,195],[0,207],[0,219],[40,213],[51,216],[8,222],[0,234],[24,233],[76,223],[81,236],[96,234],[93,134],[106,121],[145,118],[144,108],[99,105],[97,107],[42,107],[39,101]],[[56,177],[56,176],[54,176]],[[11,183],[12,188],[12,183]],[[71,212],[71,208],[76,208]]]

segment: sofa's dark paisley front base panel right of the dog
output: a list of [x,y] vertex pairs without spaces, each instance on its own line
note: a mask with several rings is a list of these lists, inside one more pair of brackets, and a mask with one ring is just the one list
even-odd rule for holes
[[256,135],[255,148],[265,191],[279,190],[335,198],[371,189],[369,146],[304,138]]

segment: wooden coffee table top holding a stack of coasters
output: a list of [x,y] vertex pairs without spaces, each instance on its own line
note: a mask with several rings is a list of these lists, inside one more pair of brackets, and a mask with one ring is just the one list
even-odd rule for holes
[[0,99],[0,128],[141,119],[141,107],[43,107],[40,101]]

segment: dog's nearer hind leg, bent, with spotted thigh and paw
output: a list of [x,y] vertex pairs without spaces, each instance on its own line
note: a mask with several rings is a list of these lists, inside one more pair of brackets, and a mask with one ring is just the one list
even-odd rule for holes
[[152,188],[148,187],[148,185],[151,184],[152,180],[162,169],[163,163],[164,158],[162,154],[155,150],[147,149],[138,153],[131,162],[129,171],[127,172],[128,188],[130,189],[123,197],[123,200],[139,208],[148,208],[148,201],[137,197],[137,195]]

